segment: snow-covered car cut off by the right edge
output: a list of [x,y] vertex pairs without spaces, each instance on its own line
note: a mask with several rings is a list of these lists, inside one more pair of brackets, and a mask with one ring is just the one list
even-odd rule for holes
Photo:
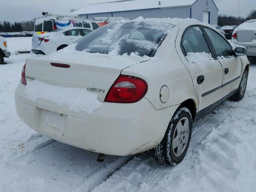
[[247,56],[256,57],[256,19],[240,24],[233,32],[231,42],[244,46]]

